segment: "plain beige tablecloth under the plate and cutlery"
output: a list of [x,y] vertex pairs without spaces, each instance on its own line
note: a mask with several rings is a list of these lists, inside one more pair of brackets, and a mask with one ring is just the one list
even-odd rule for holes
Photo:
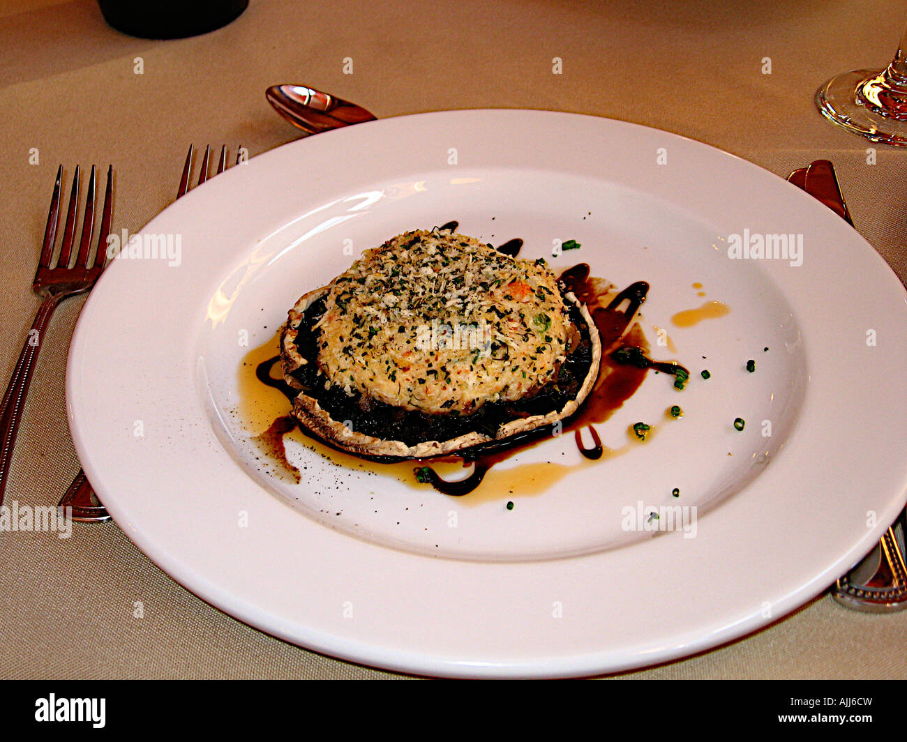
[[[881,1],[252,0],[226,28],[160,42],[113,31],[90,0],[13,0],[0,9],[0,381],[37,308],[29,287],[57,165],[112,162],[114,227],[137,231],[172,200],[190,142],[254,156],[297,137],[265,102],[272,83],[311,83],[380,117],[483,107],[608,116],[779,175],[829,158],[856,228],[904,280],[907,151],[834,128],[812,100],[832,73],[887,64],[904,20],[902,3]],[[44,340],[7,501],[56,503],[78,469],[63,376],[82,303],[64,303]],[[0,575],[5,678],[397,677],[231,619],[112,522],[76,524],[69,540],[2,532]],[[905,637],[907,612],[861,614],[825,595],[746,639],[622,677],[905,678]]]

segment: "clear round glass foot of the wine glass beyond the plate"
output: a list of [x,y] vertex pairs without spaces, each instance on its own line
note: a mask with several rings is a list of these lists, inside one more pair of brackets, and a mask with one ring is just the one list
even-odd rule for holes
[[871,142],[907,147],[907,121],[873,112],[861,102],[857,90],[879,76],[878,70],[853,70],[839,74],[815,92],[815,104],[830,122]]

